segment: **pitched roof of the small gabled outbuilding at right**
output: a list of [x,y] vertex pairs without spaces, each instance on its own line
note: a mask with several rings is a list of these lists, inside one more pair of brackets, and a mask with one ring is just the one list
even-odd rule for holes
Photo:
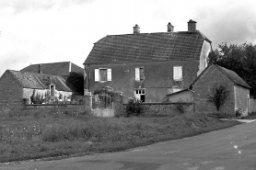
[[[246,88],[250,88],[250,85],[248,85],[238,74],[236,74],[234,71],[232,70],[228,70],[227,68],[221,67],[219,65],[216,64],[211,64],[209,65],[207,68],[204,69],[204,71],[198,75],[198,77],[193,81],[192,85],[204,74],[204,72],[209,69],[210,67],[215,67],[217,68],[219,71],[221,71],[223,74],[227,75],[227,77],[236,85],[240,85]],[[190,86],[192,86],[190,85]]]

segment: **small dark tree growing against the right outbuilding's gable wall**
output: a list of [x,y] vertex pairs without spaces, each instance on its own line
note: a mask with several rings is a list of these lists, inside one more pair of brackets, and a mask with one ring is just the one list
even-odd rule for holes
[[212,91],[213,93],[209,95],[208,99],[215,104],[217,111],[219,111],[219,108],[225,103],[229,92],[224,85],[214,87]]

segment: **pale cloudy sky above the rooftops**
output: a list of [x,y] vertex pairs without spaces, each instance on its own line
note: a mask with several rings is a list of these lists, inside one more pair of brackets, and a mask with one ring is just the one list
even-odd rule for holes
[[193,19],[213,49],[256,44],[255,0],[1,0],[0,76],[29,64],[83,62],[107,35],[186,31]]

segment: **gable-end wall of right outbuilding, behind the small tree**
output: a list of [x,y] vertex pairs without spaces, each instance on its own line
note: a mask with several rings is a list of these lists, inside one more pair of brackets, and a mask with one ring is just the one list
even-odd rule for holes
[[194,91],[193,101],[195,112],[198,113],[215,113],[217,112],[215,104],[209,101],[209,95],[213,94],[213,88],[225,85],[228,90],[228,97],[220,112],[226,112],[232,116],[235,115],[235,96],[234,84],[228,77],[215,67],[209,67],[204,74],[192,85]]

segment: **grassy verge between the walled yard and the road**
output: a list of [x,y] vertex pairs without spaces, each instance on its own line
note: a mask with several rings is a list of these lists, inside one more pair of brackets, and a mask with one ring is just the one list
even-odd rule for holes
[[22,110],[0,116],[0,162],[122,151],[237,124],[199,114],[104,119]]

